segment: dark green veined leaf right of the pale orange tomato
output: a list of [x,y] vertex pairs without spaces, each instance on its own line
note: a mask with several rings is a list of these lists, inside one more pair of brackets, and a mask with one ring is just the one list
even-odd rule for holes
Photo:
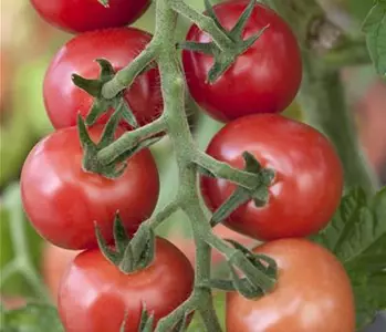
[[356,299],[357,329],[363,329],[386,309],[386,187],[373,198],[362,189],[348,193],[314,240],[345,266]]

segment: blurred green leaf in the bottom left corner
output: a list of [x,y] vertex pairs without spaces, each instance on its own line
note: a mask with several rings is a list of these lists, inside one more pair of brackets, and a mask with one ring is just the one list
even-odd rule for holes
[[1,332],[64,332],[54,307],[28,304],[3,313]]

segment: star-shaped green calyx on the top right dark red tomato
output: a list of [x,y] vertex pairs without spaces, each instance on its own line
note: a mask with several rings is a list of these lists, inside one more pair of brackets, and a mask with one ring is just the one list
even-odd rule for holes
[[242,32],[249,18],[251,17],[255,2],[255,0],[251,0],[243,13],[240,15],[233,29],[231,31],[227,31],[219,22],[209,0],[205,0],[206,13],[213,20],[216,27],[225,35],[228,37],[227,45],[218,45],[216,42],[198,43],[184,41],[178,43],[178,46],[184,50],[201,52],[215,58],[215,64],[208,73],[208,83],[215,83],[232,65],[237,58],[243,54],[249,48],[251,48],[254,42],[262,35],[265,29],[269,28],[269,25],[267,25],[261,29],[255,35],[252,35],[247,40],[242,39]]

